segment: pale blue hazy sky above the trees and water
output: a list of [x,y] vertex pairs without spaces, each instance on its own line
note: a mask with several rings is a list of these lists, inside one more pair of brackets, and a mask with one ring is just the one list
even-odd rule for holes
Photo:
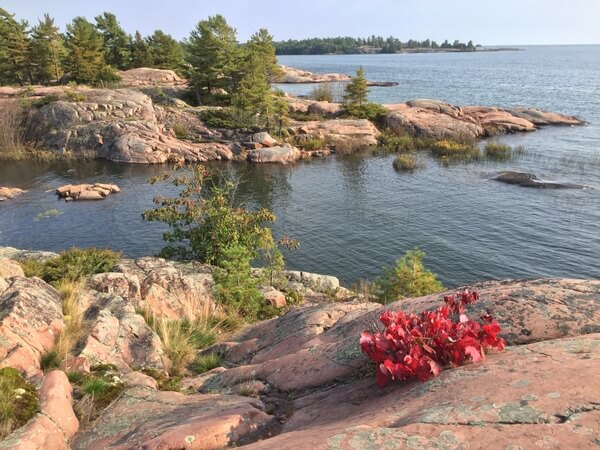
[[49,13],[64,30],[75,16],[116,14],[129,33],[161,29],[183,39],[222,14],[245,41],[259,28],[276,40],[370,35],[482,45],[600,44],[600,0],[0,0],[37,23]]

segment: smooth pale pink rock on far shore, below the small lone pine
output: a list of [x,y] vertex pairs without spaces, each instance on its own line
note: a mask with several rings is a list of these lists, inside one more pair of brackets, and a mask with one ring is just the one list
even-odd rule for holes
[[299,135],[323,139],[335,150],[342,151],[377,145],[381,134],[377,127],[366,119],[298,122],[292,128]]

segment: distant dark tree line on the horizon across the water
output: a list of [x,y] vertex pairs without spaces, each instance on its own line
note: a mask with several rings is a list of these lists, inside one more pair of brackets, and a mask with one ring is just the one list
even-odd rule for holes
[[430,39],[417,41],[409,39],[406,42],[395,37],[370,36],[368,38],[334,37],[311,38],[302,40],[287,40],[275,42],[278,55],[325,55],[325,54],[357,54],[357,53],[397,53],[406,49],[454,49],[473,52],[476,45],[473,41],[468,43],[447,40],[441,44]]

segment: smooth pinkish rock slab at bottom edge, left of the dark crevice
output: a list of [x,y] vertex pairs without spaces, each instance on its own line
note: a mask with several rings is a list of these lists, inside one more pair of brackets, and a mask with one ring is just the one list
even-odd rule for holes
[[75,438],[73,449],[220,449],[264,433],[260,400],[132,388]]

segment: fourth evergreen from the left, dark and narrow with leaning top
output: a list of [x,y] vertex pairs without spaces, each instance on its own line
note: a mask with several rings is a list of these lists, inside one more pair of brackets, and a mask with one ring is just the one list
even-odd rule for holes
[[104,38],[104,58],[107,64],[120,70],[131,67],[131,36],[117,21],[117,17],[109,12],[96,16],[96,28]]

